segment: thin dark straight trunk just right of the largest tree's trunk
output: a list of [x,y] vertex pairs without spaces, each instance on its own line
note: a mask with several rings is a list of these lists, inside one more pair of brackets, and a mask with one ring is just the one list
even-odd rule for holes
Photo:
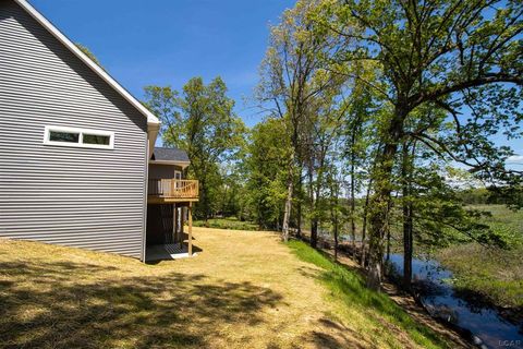
[[403,206],[403,287],[406,290],[411,289],[412,284],[412,254],[413,254],[413,218],[412,218],[412,202],[411,181],[412,181],[412,157],[409,154],[409,146],[403,143],[402,148],[402,166],[401,177],[403,180],[402,188],[402,206]]

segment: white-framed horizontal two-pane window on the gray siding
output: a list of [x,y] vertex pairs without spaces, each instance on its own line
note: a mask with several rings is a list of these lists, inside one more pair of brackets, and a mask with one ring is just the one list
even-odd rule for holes
[[77,128],[46,127],[44,144],[112,149],[114,147],[114,133]]

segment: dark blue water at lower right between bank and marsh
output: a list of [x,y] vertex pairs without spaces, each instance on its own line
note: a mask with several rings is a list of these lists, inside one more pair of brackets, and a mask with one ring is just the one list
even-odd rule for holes
[[[391,254],[390,262],[401,275],[403,255]],[[452,273],[438,262],[413,258],[412,270],[419,299],[430,315],[470,330],[482,348],[523,348],[523,323],[514,324],[496,309],[460,294],[448,282]]]

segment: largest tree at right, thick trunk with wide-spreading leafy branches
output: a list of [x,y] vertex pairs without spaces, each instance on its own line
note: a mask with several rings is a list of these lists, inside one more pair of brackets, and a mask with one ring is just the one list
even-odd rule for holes
[[[367,284],[377,289],[392,201],[392,170],[405,137],[465,164],[477,177],[492,182],[521,178],[503,166],[511,152],[496,147],[488,136],[522,119],[523,4],[516,0],[345,0],[341,4],[326,2],[319,13],[316,21],[323,27],[346,39],[346,45],[333,52],[333,61],[379,64],[385,88],[373,87],[393,109],[384,119],[384,146],[369,206]],[[452,128],[446,130],[445,140],[451,146],[424,130],[405,132],[412,111],[423,106],[447,111]],[[434,122],[437,124],[431,127],[441,130],[441,120]]]

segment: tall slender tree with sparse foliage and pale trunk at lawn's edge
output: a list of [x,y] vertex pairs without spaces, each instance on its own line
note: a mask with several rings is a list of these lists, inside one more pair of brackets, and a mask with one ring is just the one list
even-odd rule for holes
[[335,47],[328,32],[313,31],[308,14],[319,1],[297,1],[287,10],[281,23],[270,32],[270,44],[262,63],[257,98],[278,118],[284,119],[291,149],[285,164],[287,200],[282,239],[289,236],[294,183],[302,153],[302,132],[311,99],[332,83],[333,75],[324,69],[326,53]]

